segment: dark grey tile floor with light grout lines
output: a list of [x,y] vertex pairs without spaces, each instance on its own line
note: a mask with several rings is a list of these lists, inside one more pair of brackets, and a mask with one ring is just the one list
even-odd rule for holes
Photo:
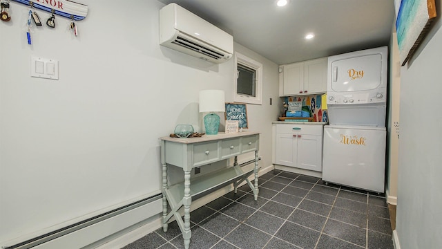
[[[273,170],[191,212],[190,248],[393,248],[385,198],[320,178]],[[124,249],[184,248],[176,221]]]

